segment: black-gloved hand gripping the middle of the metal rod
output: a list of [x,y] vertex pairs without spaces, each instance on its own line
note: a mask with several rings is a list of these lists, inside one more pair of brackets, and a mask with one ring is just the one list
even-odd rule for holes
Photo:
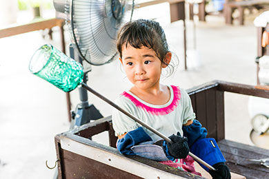
[[179,132],[177,136],[174,134],[169,137],[174,143],[168,143],[168,152],[171,156],[175,158],[186,158],[189,154],[188,139],[186,137],[181,137]]

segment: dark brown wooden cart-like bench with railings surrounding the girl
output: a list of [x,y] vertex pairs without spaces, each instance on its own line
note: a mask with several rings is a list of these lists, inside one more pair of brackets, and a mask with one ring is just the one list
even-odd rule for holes
[[[217,140],[230,170],[248,179],[268,178],[268,168],[246,159],[269,158],[269,150],[225,139],[224,94],[269,98],[269,91],[252,85],[212,81],[187,92],[197,119],[208,129],[208,137]],[[108,131],[110,146],[89,139],[103,131]],[[202,178],[139,156],[122,156],[114,148],[116,140],[111,117],[55,136],[59,178]]]

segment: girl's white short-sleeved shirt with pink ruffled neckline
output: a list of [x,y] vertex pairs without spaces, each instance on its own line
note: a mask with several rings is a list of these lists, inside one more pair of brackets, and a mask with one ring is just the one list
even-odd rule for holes
[[[173,85],[168,87],[171,97],[164,105],[152,105],[129,91],[123,92],[115,103],[165,136],[176,135],[177,131],[183,136],[182,125],[195,118],[190,96],[184,89]],[[112,124],[115,136],[121,136],[141,126],[117,109],[112,112]],[[143,129],[153,141],[161,138],[145,127]]]

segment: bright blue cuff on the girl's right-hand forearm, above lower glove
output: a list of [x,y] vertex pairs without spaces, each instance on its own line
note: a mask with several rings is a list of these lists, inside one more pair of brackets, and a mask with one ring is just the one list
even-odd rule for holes
[[[190,148],[190,151],[211,166],[219,162],[226,162],[214,138],[202,138],[197,140]],[[201,165],[201,163],[199,163],[199,165]],[[206,169],[206,171],[209,170],[204,165],[201,165],[201,167]]]

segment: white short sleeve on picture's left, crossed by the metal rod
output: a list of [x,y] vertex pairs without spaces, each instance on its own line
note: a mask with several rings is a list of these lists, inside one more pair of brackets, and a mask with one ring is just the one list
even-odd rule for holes
[[[119,107],[124,109],[126,112],[129,112],[130,114],[136,116],[135,105],[133,105],[128,98],[125,98],[124,96],[119,96],[115,103],[119,105]],[[112,111],[112,124],[115,131],[115,136],[121,136],[124,133],[135,130],[139,127],[135,120],[132,120],[132,118],[126,116],[126,114],[123,114],[118,109],[113,109]]]

